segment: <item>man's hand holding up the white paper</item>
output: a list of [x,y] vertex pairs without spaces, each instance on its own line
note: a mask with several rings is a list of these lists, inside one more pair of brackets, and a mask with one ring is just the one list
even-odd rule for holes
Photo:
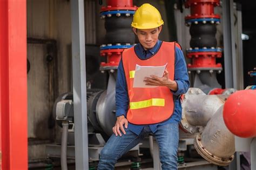
[[151,75],[151,78],[145,77],[144,82],[146,83],[146,85],[149,86],[166,86],[172,91],[178,90],[178,85],[176,81],[169,79],[169,73],[167,70],[165,70],[163,77]]

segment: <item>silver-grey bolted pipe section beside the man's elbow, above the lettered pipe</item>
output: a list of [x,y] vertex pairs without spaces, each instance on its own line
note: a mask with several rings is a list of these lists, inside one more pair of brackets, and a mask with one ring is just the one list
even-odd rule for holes
[[183,108],[181,125],[184,131],[201,132],[227,97],[227,95],[206,95],[198,88],[188,89],[181,104]]

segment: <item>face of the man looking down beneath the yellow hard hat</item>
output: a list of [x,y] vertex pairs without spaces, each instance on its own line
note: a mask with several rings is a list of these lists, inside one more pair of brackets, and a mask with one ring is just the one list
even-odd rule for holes
[[135,29],[133,32],[138,36],[139,43],[142,44],[145,50],[152,49],[156,45],[159,33],[161,32],[162,26],[154,29]]

